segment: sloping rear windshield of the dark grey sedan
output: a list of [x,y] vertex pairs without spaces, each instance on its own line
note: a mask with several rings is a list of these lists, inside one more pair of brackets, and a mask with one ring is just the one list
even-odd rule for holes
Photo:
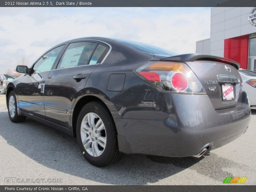
[[127,40],[121,40],[121,39],[115,39],[116,41],[126,44],[130,47],[133,47],[134,49],[137,49],[138,51],[146,52],[146,53],[152,53],[152,54],[160,54],[160,55],[168,55],[168,56],[173,56],[177,55],[174,52],[162,49],[160,47],[156,47],[153,45],[145,44],[145,43],[140,43],[136,41],[127,41]]

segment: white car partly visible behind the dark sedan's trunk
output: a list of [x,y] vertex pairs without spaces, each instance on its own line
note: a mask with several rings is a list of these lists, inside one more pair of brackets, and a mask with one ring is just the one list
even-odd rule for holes
[[249,103],[251,107],[256,107],[256,72],[245,69],[239,69],[239,73],[242,77],[245,91],[249,99]]

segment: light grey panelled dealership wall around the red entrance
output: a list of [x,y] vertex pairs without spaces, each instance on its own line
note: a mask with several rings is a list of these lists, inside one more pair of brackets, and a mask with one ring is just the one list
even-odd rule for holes
[[256,27],[247,20],[253,9],[252,2],[243,0],[241,4],[241,7],[212,7],[211,55],[224,57],[224,39],[256,33]]

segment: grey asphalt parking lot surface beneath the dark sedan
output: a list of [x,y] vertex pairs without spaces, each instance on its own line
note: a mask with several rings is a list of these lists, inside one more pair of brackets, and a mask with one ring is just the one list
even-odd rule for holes
[[[32,119],[12,123],[5,95],[0,95],[0,185],[221,185],[228,176],[247,177],[242,185],[256,185],[255,146],[252,109],[247,132],[203,158],[125,155],[116,164],[98,168],[84,159],[76,138]],[[62,183],[6,183],[11,177]]]

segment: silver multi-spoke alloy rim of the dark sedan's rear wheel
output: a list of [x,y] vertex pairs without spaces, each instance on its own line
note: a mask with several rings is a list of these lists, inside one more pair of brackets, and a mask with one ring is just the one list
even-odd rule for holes
[[100,156],[107,143],[106,130],[103,121],[96,113],[87,113],[81,124],[81,139],[86,152],[93,156]]

